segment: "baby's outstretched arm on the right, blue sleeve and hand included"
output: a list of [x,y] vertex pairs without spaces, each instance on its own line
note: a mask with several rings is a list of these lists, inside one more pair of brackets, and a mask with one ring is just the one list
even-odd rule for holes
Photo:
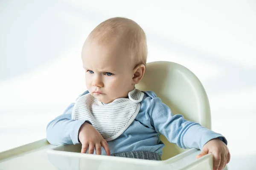
[[194,147],[202,150],[198,158],[212,153],[214,170],[221,170],[230,161],[224,136],[198,123],[187,121],[182,115],[173,115],[171,109],[157,97],[150,100],[149,106],[147,113],[151,117],[151,125],[166,136],[169,142],[183,148]]

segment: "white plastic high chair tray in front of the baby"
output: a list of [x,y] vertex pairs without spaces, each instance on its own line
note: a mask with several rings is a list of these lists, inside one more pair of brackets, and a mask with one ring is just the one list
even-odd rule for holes
[[42,139],[0,153],[0,170],[212,170],[212,154],[190,149],[164,161],[79,153],[81,145],[54,146]]

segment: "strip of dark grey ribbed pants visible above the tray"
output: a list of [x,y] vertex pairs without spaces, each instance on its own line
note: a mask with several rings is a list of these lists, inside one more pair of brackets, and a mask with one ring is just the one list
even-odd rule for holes
[[148,159],[161,161],[161,155],[159,153],[148,152],[148,151],[134,151],[134,152],[121,152],[114,153],[111,156],[119,156],[125,158],[137,158],[137,159]]

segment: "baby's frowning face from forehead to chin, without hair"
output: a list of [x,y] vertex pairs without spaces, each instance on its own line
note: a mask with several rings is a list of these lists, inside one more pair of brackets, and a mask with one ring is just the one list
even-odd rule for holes
[[87,90],[103,103],[127,97],[134,89],[133,66],[128,50],[119,42],[100,45],[86,42],[82,50]]

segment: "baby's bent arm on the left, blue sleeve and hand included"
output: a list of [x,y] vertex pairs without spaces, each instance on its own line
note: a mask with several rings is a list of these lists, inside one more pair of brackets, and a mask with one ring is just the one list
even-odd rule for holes
[[47,125],[47,140],[50,144],[79,144],[81,153],[94,153],[101,155],[101,147],[110,155],[108,143],[101,134],[86,120],[73,120],[71,113],[74,103],[70,104],[64,113],[53,119]]

